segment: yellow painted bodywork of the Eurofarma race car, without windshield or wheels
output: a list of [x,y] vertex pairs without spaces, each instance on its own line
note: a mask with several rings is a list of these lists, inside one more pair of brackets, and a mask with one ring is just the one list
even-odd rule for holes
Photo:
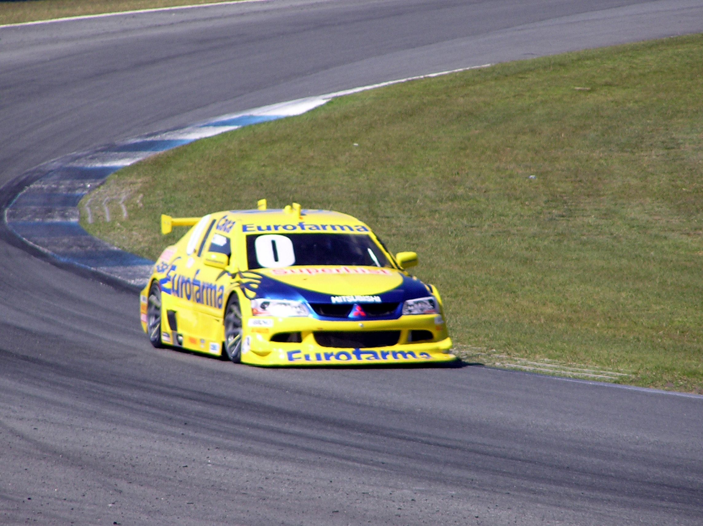
[[[265,207],[266,204],[263,203]],[[451,339],[446,331],[441,298],[432,286],[423,286],[427,295],[439,302],[439,314],[408,314],[396,319],[318,319],[309,316],[255,316],[251,300],[264,279],[295,290],[330,295],[332,302],[380,301],[379,295],[392,291],[410,279],[392,255],[378,242],[366,224],[347,214],[325,210],[301,210],[299,205],[284,210],[224,211],[202,219],[169,218],[169,223],[192,225],[176,245],[167,247],[157,259],[148,286],[140,296],[141,323],[147,331],[148,294],[152,283],[161,290],[161,339],[165,345],[220,356],[224,342],[224,309],[236,294],[242,311],[241,361],[257,366],[343,366],[378,364],[427,364],[453,361]],[[364,234],[382,250],[388,267],[303,266],[262,268],[249,271],[246,236],[250,234],[347,233]],[[231,247],[225,269],[206,262],[208,246],[224,243]],[[217,248],[217,247],[215,247]],[[258,249],[257,249],[258,250]],[[212,254],[212,252],[210,252]],[[211,257],[212,259],[212,257]],[[405,276],[405,277],[404,277]],[[413,286],[422,284],[412,278]],[[269,283],[271,283],[269,281]],[[419,285],[418,285],[419,284]],[[286,289],[287,290],[287,289]],[[423,289],[424,290],[424,289]],[[327,297],[327,296],[325,296]],[[366,316],[366,314],[363,314]],[[172,323],[175,326],[172,326]],[[328,333],[352,334],[394,331],[395,345],[380,347],[325,347]],[[431,333],[432,338],[411,341],[411,331]],[[272,341],[280,333],[299,333],[299,342]]]

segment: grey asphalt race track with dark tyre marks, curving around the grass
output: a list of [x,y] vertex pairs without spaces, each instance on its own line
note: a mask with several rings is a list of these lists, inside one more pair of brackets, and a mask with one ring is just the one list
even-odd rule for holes
[[[270,1],[1,27],[0,206],[39,163],[136,134],[700,31],[699,0]],[[5,226],[0,400],[2,525],[703,522],[703,397],[156,350],[134,291]]]

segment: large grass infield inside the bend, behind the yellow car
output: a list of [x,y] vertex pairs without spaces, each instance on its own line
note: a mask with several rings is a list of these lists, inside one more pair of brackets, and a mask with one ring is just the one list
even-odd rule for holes
[[678,37],[335,99],[121,170],[98,193],[131,188],[129,220],[84,226],[155,259],[183,233],[162,212],[348,212],[418,252],[467,359],[703,392],[701,56]]

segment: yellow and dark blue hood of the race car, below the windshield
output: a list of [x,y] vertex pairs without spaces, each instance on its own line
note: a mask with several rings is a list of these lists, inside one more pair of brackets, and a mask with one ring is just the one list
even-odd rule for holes
[[[309,302],[403,301],[430,294],[421,281],[378,267],[286,267],[256,269],[257,297],[301,297]],[[258,280],[257,280],[258,281]]]

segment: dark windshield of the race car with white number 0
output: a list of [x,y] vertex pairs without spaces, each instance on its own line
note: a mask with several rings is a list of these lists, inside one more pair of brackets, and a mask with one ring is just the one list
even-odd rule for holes
[[247,236],[250,269],[293,265],[391,267],[370,236],[347,233],[275,233]]

